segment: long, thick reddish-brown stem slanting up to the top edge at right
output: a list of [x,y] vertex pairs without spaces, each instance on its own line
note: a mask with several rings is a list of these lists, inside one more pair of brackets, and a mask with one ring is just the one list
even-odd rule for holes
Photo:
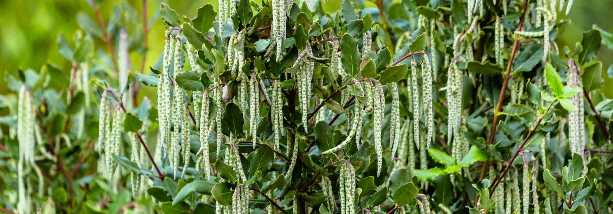
[[[521,31],[524,26],[524,18],[526,17],[526,10],[528,8],[528,0],[524,0],[524,6],[522,6],[522,16],[519,18],[519,24],[517,25],[517,31]],[[494,109],[494,116],[492,120],[492,131],[490,131],[490,138],[487,141],[487,144],[492,144],[494,142],[494,136],[496,135],[496,128],[498,126],[498,112],[502,108],[502,103],[504,101],[504,91],[506,90],[507,84],[509,83],[509,79],[511,79],[511,68],[513,66],[513,61],[515,60],[515,54],[517,53],[517,46],[519,46],[519,36],[515,37],[513,42],[513,48],[511,50],[511,56],[509,57],[509,64],[506,66],[506,73],[504,74],[504,81],[502,83],[502,88],[500,89],[500,95],[498,96],[498,103],[496,103],[496,108]],[[485,171],[487,170],[487,161],[483,164],[483,168],[481,168],[481,177],[479,180],[483,180],[485,176]],[[493,192],[493,191],[492,191]],[[490,194],[491,195],[491,194]]]

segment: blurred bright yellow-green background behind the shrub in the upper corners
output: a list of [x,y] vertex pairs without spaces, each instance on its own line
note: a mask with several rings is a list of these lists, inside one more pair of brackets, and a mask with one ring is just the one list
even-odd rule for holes
[[[398,1],[398,0],[394,0]],[[517,0],[511,0],[517,1]],[[147,1],[147,18],[151,19],[156,13],[161,1]],[[198,7],[204,4],[212,4],[217,7],[217,1],[165,1],[172,9],[177,10],[180,15],[194,17]],[[58,45],[56,39],[58,34],[62,32],[67,38],[72,38],[75,30],[79,29],[77,24],[77,13],[83,12],[88,15],[93,21],[96,21],[96,16],[90,5],[89,0],[0,0],[0,7],[3,10],[0,13],[2,27],[0,28],[0,71],[7,73],[14,72],[18,68],[32,68],[39,70],[47,61],[63,67],[63,72],[67,75],[70,69],[70,62],[67,62],[58,54]],[[113,9],[116,5],[126,3],[129,4],[137,14],[132,14],[132,18],[142,19],[142,0],[121,1],[121,0],[96,0],[102,15],[105,25],[112,18]],[[329,0],[324,4],[324,9],[335,11],[340,9],[341,0]],[[367,7],[369,4],[367,4]],[[613,11],[613,1],[574,1],[573,9],[568,15],[572,23],[566,32],[558,37],[556,42],[562,51],[565,45],[574,50],[574,44],[581,42],[582,32],[592,29],[593,24],[597,24],[605,31],[613,31],[613,21],[609,20]],[[566,19],[566,17],[558,12],[558,21]],[[159,54],[163,50],[164,26],[159,18],[150,22],[149,51],[147,52],[147,61],[145,67],[155,64]],[[97,24],[97,23],[96,23]],[[142,26],[135,26],[140,28]],[[131,29],[132,30],[132,29]],[[114,38],[114,50],[116,51],[117,38]],[[98,50],[107,51],[105,43],[101,39],[95,39],[96,48]],[[142,40],[137,40],[134,44],[142,45]],[[135,49],[131,51],[131,61],[133,70],[140,70],[142,62],[142,50]],[[603,76],[606,79],[605,85],[600,90],[607,95],[613,97],[613,79],[609,78],[607,68],[611,67],[613,62],[613,51],[601,46],[600,54],[598,55],[603,61]],[[148,73],[145,69],[144,73]],[[0,78],[0,93],[7,93],[6,83],[4,78]]]

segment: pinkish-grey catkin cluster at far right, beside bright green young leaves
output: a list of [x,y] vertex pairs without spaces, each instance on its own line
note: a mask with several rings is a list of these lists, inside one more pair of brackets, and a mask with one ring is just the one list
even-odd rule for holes
[[[574,61],[568,61],[568,86],[583,88],[581,71],[574,64]],[[583,94],[577,93],[570,98],[574,106],[579,110],[568,113],[568,144],[571,153],[577,152],[583,157],[585,149],[585,116],[583,108]]]

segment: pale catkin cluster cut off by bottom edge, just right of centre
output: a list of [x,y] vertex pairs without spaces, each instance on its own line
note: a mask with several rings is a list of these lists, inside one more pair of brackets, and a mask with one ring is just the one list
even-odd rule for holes
[[338,177],[340,191],[338,197],[341,201],[341,214],[354,214],[355,192],[356,192],[356,171],[349,161],[341,160],[341,172]]

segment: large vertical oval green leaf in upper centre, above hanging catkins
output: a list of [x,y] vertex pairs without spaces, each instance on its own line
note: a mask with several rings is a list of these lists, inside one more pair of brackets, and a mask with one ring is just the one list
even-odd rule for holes
[[[348,0],[345,0],[348,1]],[[343,3],[344,5],[345,3]],[[343,34],[341,39],[341,65],[351,76],[356,76],[360,72],[360,53],[356,50],[357,40],[349,34]]]

